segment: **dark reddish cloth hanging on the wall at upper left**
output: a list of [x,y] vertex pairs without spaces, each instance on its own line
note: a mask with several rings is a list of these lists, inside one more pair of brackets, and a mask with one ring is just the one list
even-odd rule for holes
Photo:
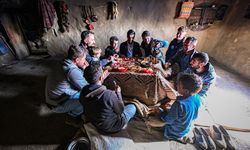
[[50,0],[38,0],[38,13],[42,18],[42,26],[45,32],[47,32],[54,23],[55,9]]

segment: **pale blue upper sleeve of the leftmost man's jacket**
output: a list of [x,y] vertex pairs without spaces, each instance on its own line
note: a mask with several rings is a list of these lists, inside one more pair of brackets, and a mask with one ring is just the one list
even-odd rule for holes
[[83,71],[77,68],[70,70],[67,74],[69,82],[77,89],[81,90],[88,82],[83,76]]

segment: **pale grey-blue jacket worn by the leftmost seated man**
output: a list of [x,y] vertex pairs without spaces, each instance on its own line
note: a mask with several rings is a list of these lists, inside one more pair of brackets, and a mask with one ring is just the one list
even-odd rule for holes
[[53,69],[47,78],[46,92],[49,99],[59,103],[81,91],[88,82],[84,78],[83,70],[70,59],[65,59],[63,64],[57,65],[58,68]]

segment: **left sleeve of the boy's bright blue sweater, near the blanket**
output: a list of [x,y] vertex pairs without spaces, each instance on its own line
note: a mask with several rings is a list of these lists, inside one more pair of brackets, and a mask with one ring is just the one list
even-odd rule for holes
[[174,104],[171,106],[170,111],[168,113],[161,112],[160,117],[167,124],[172,124],[175,120],[178,119],[179,109],[180,109],[179,103],[178,102],[174,102]]

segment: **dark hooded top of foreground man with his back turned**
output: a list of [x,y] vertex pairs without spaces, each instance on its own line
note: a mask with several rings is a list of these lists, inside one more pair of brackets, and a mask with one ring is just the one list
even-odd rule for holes
[[108,90],[103,85],[90,84],[82,89],[80,102],[85,115],[101,132],[118,132],[125,125],[121,117],[124,110],[121,93]]

